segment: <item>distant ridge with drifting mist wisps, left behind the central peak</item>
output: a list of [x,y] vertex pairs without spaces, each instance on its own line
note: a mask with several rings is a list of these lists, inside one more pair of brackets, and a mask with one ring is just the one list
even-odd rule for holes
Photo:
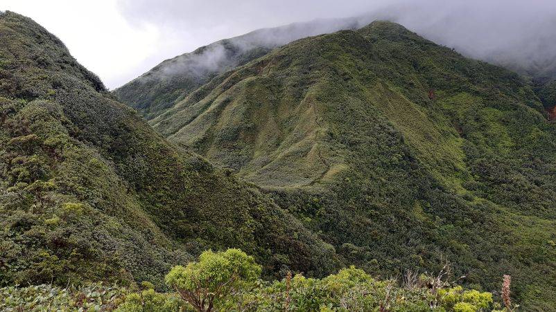
[[360,28],[370,20],[370,17],[316,19],[223,39],[166,59],[113,93],[150,120],[216,75],[265,55],[273,48],[303,37]]

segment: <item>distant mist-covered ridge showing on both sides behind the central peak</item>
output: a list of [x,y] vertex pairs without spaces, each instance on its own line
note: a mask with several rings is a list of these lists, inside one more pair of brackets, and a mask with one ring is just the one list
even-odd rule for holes
[[[147,120],[153,120],[217,75],[261,57],[279,46],[304,37],[334,33],[338,30],[356,30],[370,21],[380,19],[379,17],[381,15],[315,19],[254,30],[245,35],[202,46],[191,53],[166,59],[112,93]],[[477,54],[465,46],[459,46],[456,50],[471,58]],[[539,46],[537,52],[532,55],[531,53],[501,49],[476,58],[520,73],[541,88],[555,80],[556,59],[550,56],[545,46]],[[543,53],[545,55],[541,57]],[[555,106],[550,104],[550,109]]]

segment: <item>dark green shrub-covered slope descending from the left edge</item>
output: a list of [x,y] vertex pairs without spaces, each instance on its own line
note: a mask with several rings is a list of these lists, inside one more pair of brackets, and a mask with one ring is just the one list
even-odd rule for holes
[[0,42],[0,286],[162,286],[171,266],[226,247],[266,276],[336,271],[329,244],[168,143],[34,21],[1,13]]

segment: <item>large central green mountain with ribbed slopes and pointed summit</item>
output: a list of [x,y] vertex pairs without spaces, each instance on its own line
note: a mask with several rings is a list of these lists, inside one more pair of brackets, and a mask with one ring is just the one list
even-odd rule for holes
[[496,293],[510,274],[525,309],[553,309],[556,127],[525,78],[375,21],[205,81],[150,124],[351,264],[384,276],[448,260],[467,284]]

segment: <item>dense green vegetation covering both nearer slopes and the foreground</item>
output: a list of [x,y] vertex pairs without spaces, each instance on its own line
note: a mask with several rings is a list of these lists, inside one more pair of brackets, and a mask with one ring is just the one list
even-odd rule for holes
[[[135,85],[167,96],[168,143],[30,19],[0,14],[0,42],[1,309],[175,311],[205,291],[227,310],[480,311],[503,274],[525,310],[556,304],[550,84],[375,22]],[[253,257],[203,253],[228,247]],[[446,259],[476,290],[388,279]]]

